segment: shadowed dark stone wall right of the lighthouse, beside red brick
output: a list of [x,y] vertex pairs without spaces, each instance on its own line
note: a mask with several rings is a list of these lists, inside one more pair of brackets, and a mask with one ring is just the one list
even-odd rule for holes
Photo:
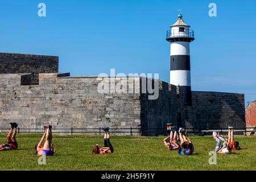
[[191,113],[186,126],[220,129],[228,126],[245,127],[244,94],[192,92]]

